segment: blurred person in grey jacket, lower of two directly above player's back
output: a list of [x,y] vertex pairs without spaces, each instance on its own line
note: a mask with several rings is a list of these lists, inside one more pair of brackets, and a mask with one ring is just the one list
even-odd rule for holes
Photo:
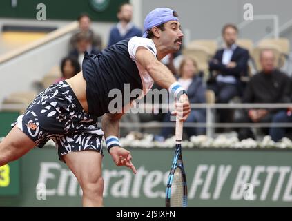
[[79,61],[80,66],[82,66],[82,61],[84,59],[84,52],[87,51],[89,54],[98,55],[99,50],[93,47],[93,39],[88,34],[88,32],[79,32],[77,35],[76,48],[73,48],[69,52],[70,57],[75,57]]

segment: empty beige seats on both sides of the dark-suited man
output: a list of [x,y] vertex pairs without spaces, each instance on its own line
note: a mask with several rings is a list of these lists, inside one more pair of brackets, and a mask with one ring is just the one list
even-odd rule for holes
[[[289,39],[286,38],[262,39],[257,46],[253,46],[253,41],[250,39],[237,39],[237,45],[249,50],[252,65],[256,71],[260,70],[260,51],[262,49],[269,48],[274,50],[275,66],[278,68],[284,66],[285,60],[288,58],[290,52]],[[183,50],[183,55],[195,59],[199,66],[199,70],[208,74],[208,61],[215,55],[217,48],[218,45],[215,40],[193,40]]]

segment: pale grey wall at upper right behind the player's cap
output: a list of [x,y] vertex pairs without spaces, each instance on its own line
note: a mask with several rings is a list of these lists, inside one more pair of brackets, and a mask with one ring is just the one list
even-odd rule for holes
[[[288,0],[141,0],[142,17],[157,7],[177,10],[182,28],[190,33],[190,39],[216,39],[225,23],[240,24],[245,3],[253,5],[253,15],[278,15],[280,26],[292,19],[292,1]],[[273,21],[254,21],[240,31],[240,37],[258,41],[273,31]]]

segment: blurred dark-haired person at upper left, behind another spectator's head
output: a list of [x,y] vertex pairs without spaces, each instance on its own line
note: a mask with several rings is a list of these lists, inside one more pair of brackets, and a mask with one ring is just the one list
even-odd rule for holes
[[76,46],[77,46],[77,38],[78,38],[79,32],[88,33],[90,38],[93,40],[93,42],[92,42],[93,47],[97,48],[98,50],[102,50],[101,36],[97,35],[90,28],[91,19],[90,19],[89,15],[87,15],[87,14],[79,15],[78,22],[79,22],[79,29],[77,30],[77,32],[75,32],[74,35],[72,35],[72,37],[70,39],[70,48],[69,48],[69,50],[73,50],[73,48],[76,48]]

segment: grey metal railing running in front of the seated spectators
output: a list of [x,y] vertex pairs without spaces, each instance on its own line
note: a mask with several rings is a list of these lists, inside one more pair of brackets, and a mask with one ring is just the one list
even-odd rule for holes
[[[278,104],[240,104],[240,103],[228,103],[228,104],[191,104],[191,109],[206,109],[206,123],[185,122],[184,127],[204,127],[206,128],[206,135],[213,137],[214,128],[268,128],[272,126],[272,123],[218,123],[215,122],[215,110],[216,109],[251,109],[251,108],[264,108],[264,109],[280,109],[289,108],[292,104],[278,103]],[[2,104],[1,110],[17,111],[19,109],[26,108],[22,104]],[[139,104],[138,107],[132,108],[130,113],[150,113],[151,110],[156,109],[163,110],[162,113],[167,113],[170,105],[168,104]],[[147,112],[147,110],[150,110]],[[121,128],[162,128],[162,127],[174,127],[175,122],[121,122]],[[273,127],[280,128],[292,128],[292,123],[273,123]]]

